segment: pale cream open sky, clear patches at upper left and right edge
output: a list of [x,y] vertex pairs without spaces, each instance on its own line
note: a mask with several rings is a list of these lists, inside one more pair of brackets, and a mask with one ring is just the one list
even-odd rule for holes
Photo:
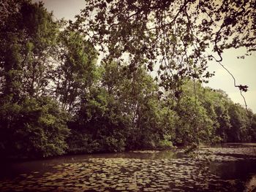
[[[39,0],[32,0],[32,2],[38,1]],[[48,11],[53,11],[55,18],[65,18],[66,20],[74,20],[75,15],[78,15],[80,9],[84,8],[85,1],[86,0],[42,0]],[[237,85],[247,85],[249,87],[248,91],[243,93],[243,95],[246,99],[247,107],[256,113],[256,53],[244,59],[237,58],[237,56],[243,55],[245,52],[246,50],[243,48],[225,50],[222,55],[222,64],[236,78]],[[209,82],[205,86],[214,89],[222,89],[235,103],[240,103],[242,106],[245,106],[240,91],[233,85],[233,78],[222,66],[213,61],[208,64],[208,70],[215,72],[215,75],[209,79]]]

